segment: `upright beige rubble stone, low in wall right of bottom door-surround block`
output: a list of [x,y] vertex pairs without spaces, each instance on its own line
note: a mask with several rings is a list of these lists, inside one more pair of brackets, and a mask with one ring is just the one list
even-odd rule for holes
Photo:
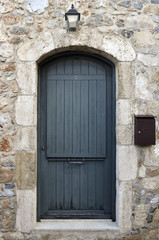
[[134,212],[134,224],[136,226],[144,226],[146,223],[146,209],[144,204],[136,205],[135,206],[135,212]]

